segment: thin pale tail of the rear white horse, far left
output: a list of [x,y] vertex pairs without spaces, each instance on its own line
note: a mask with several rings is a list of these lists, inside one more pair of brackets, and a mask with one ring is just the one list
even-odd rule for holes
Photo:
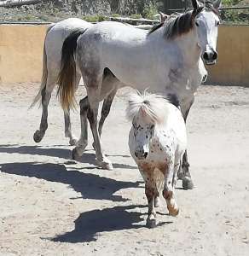
[[46,38],[47,38],[47,34],[48,32],[52,29],[52,27],[55,26],[55,24],[52,24],[51,26],[49,26],[49,28],[47,29],[46,32],[46,36],[45,36],[45,40],[44,40],[44,44],[43,44],[43,77],[42,77],[42,81],[41,81],[41,86],[40,89],[38,91],[37,96],[35,96],[35,98],[33,99],[32,104],[30,105],[29,108],[33,108],[40,100],[42,97],[42,90],[46,87],[47,84],[47,79],[48,79],[48,67],[47,67],[47,53],[46,53]]

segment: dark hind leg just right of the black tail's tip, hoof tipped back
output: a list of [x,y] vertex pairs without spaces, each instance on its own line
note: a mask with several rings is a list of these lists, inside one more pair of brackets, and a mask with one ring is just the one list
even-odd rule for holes
[[88,144],[88,123],[87,123],[87,113],[89,110],[88,96],[85,96],[79,102],[80,107],[80,125],[81,133],[78,140],[77,146],[72,150],[72,159],[76,160],[84,152]]

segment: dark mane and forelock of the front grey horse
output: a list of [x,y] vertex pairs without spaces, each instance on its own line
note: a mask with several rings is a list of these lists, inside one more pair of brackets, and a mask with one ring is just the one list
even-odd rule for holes
[[174,39],[182,34],[188,33],[194,28],[194,18],[196,15],[199,15],[203,9],[212,11],[219,17],[218,10],[213,7],[211,1],[206,1],[205,5],[200,6],[198,9],[189,10],[184,14],[172,14],[165,22],[153,26],[151,31],[148,32],[148,35],[157,31],[160,27],[164,27],[164,37],[166,39]]

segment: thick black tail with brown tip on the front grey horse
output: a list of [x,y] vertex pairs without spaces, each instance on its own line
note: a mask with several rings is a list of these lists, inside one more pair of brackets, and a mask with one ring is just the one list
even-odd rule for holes
[[61,107],[64,110],[75,108],[75,80],[76,80],[76,60],[75,50],[77,39],[86,29],[74,30],[64,41],[61,49],[61,71],[58,78],[57,96],[59,96]]

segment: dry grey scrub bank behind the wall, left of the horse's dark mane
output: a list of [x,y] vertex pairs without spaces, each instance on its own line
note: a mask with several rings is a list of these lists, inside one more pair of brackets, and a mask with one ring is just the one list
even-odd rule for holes
[[101,21],[107,15],[153,18],[158,9],[161,9],[162,3],[163,1],[159,0],[43,0],[37,4],[0,8],[0,19],[58,21],[73,16],[89,21]]

